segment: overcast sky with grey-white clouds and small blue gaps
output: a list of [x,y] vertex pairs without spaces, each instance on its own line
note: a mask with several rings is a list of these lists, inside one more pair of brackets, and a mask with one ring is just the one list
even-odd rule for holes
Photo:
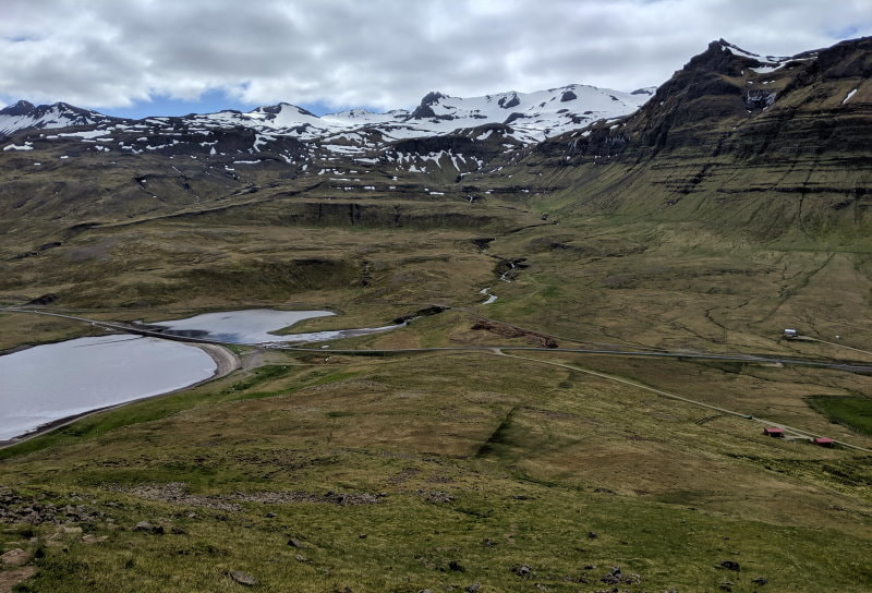
[[0,104],[318,113],[666,81],[719,37],[792,55],[872,35],[872,0],[0,0]]

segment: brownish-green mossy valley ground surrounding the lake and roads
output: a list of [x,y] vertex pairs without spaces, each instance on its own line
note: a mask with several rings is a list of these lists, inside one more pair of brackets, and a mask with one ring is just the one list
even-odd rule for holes
[[[564,346],[868,362],[862,352],[779,338],[799,326],[869,343],[872,268],[863,252],[787,250],[692,223],[567,215],[553,225],[534,199],[529,209],[491,199],[491,215],[513,222],[483,230],[258,223],[242,213],[208,225],[104,228],[4,263],[0,296],[22,303],[51,292],[61,296],[55,308],[120,320],[261,306],[340,313],[300,329],[376,326],[432,304],[452,307],[332,348],[530,344],[472,329],[488,318]],[[494,239],[486,251],[474,241],[482,237]],[[498,278],[506,258],[525,258],[511,282]],[[299,263],[313,261],[328,264]],[[495,303],[481,304],[484,287]],[[21,314],[1,315],[0,327],[0,348],[93,330]],[[261,591],[416,592],[479,582],[481,591],[593,592],[615,586],[601,582],[614,566],[641,576],[617,585],[629,591],[714,591],[726,581],[754,591],[758,577],[782,591],[870,586],[872,476],[861,452],[767,438],[743,419],[491,353],[243,358],[246,370],[206,386],[2,451],[0,484],[59,504],[77,493],[113,519],[84,524],[86,534],[108,536],[94,544],[82,534],[55,536],[55,525],[7,524],[3,549],[41,550],[22,591],[233,591],[242,585],[227,573],[243,570]],[[872,379],[863,374],[531,358],[872,445],[806,399],[868,394]],[[173,483],[193,498],[142,496],[143,487]],[[267,504],[238,494],[289,492],[310,498]],[[387,496],[342,506],[324,499],[328,492]],[[192,503],[203,499],[240,510]],[[133,531],[142,520],[166,533]],[[289,547],[291,537],[303,547]],[[724,560],[741,571],[716,568]],[[532,574],[514,574],[520,565]]]

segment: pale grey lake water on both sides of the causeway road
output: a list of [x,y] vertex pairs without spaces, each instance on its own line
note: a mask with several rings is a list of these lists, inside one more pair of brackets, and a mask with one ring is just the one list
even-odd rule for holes
[[[329,311],[255,308],[149,324],[167,334],[231,343],[301,343],[388,331],[400,325],[277,336]],[[215,361],[182,342],[131,335],[78,338],[0,356],[0,440],[90,410],[181,389],[215,374]]]

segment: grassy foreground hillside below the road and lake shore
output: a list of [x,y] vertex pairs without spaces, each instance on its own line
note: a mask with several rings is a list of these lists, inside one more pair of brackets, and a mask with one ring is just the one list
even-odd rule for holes
[[[266,362],[4,450],[3,546],[38,569],[20,591],[869,586],[868,457],[492,354]],[[858,380],[595,365],[730,404]],[[10,523],[24,507],[45,522]]]

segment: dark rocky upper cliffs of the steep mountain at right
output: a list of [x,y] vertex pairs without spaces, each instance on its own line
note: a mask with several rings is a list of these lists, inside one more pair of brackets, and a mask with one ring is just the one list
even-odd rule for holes
[[[770,65],[773,62],[767,58],[734,53],[731,48],[724,40],[713,41],[661,86],[647,104],[617,125],[603,123],[586,132],[564,134],[543,143],[540,152],[628,161],[677,150],[706,156],[727,150],[747,158],[766,152],[772,156],[786,148],[777,146],[778,136],[784,135],[808,148],[814,144],[820,154],[840,149],[841,145],[834,144],[837,138],[841,142],[845,136],[858,136],[843,134],[840,128],[856,129],[859,124],[863,133],[869,131],[865,122],[845,117],[864,112],[869,107],[864,97],[858,96],[849,105],[841,101],[850,92],[846,85],[856,82],[859,86],[872,74],[872,38],[780,59],[777,68]],[[818,120],[813,124],[801,117],[812,111]],[[827,118],[832,121],[824,122]],[[832,133],[823,137],[804,133],[822,128]],[[796,144],[790,146],[791,152],[796,148]]]

